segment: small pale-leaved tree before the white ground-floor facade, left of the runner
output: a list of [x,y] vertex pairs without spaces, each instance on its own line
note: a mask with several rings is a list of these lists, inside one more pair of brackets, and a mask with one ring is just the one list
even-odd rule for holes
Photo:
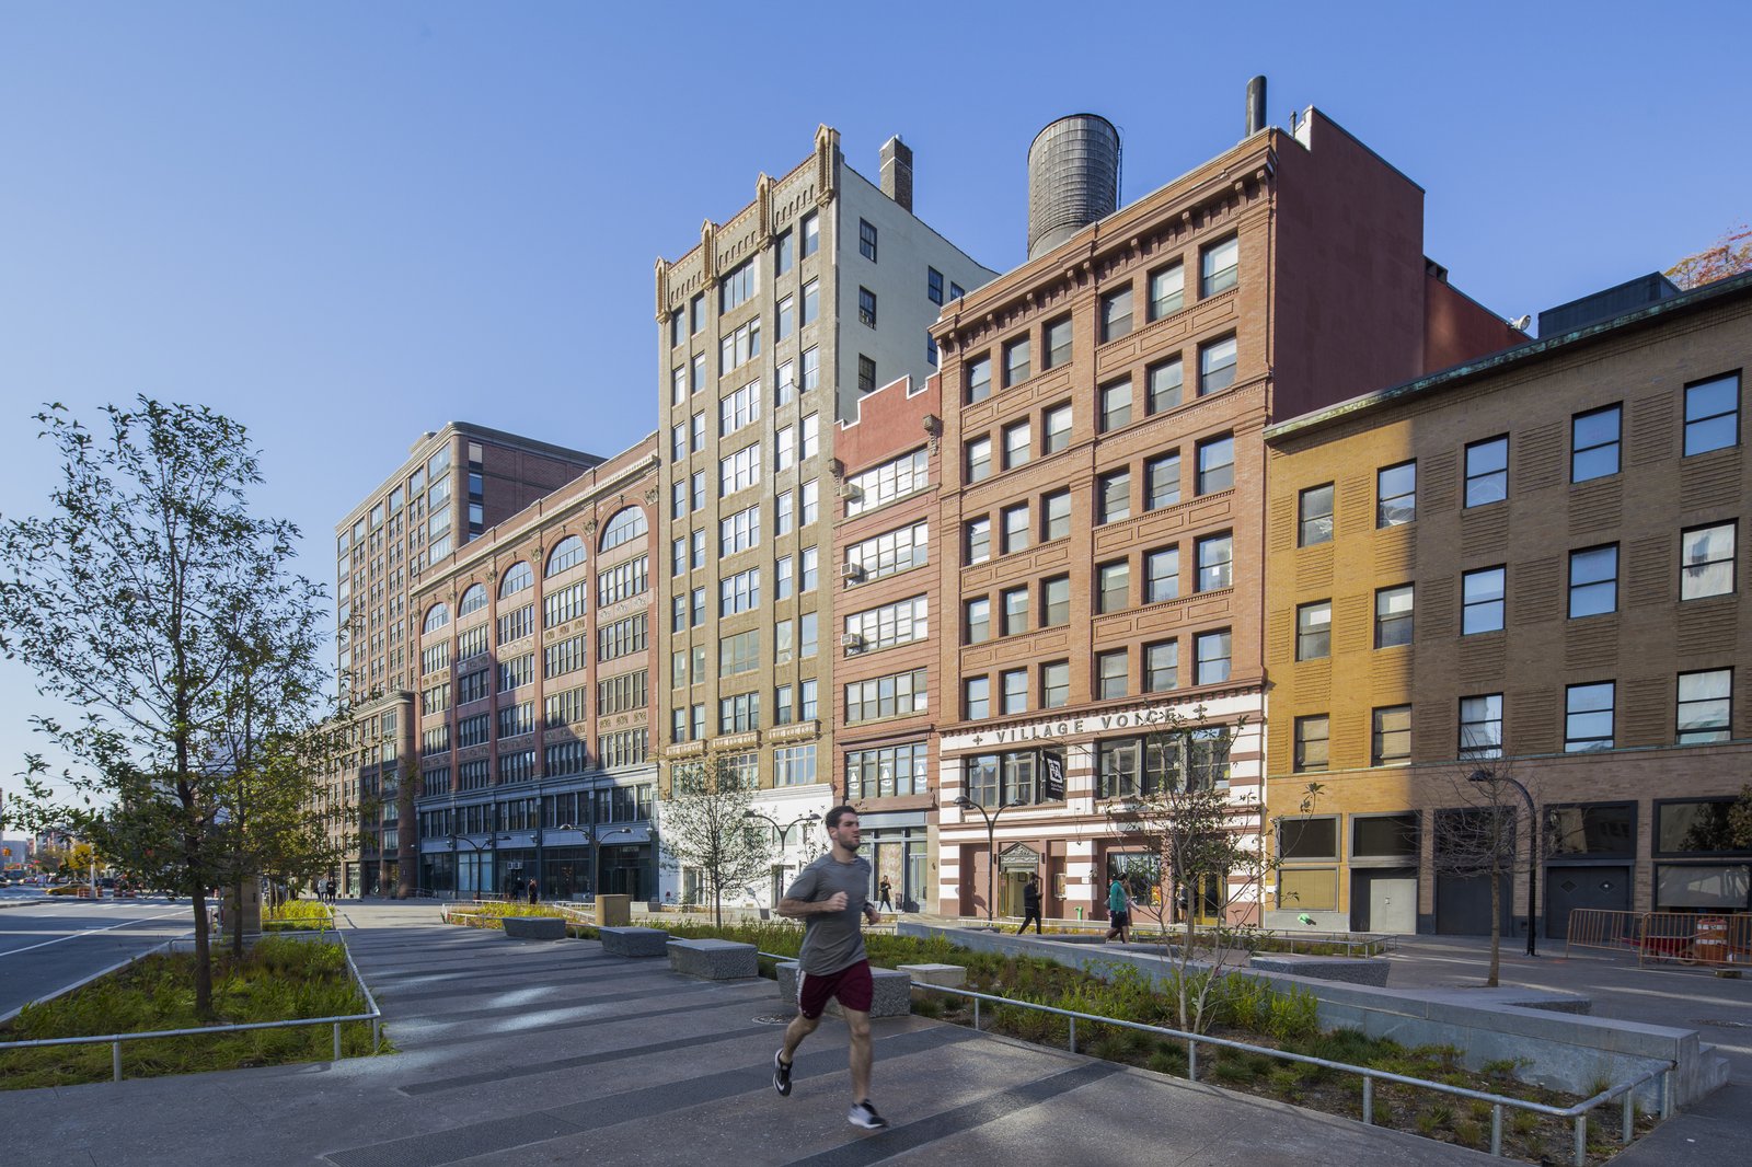
[[722,753],[669,769],[669,799],[659,808],[668,867],[696,867],[724,927],[724,892],[764,878],[773,867],[773,839],[750,820],[755,790]]

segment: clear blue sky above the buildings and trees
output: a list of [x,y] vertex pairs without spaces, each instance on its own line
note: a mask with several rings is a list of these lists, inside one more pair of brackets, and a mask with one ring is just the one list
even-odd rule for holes
[[[1202,7],[1207,14],[1183,16]],[[5,4],[0,513],[26,421],[135,393],[265,449],[265,512],[329,533],[422,431],[611,454],[655,428],[652,261],[839,128],[992,268],[1025,152],[1093,110],[1135,198],[1318,105],[1428,191],[1424,247],[1503,315],[1664,268],[1752,217],[1743,4]],[[336,424],[345,419],[345,426]],[[0,664],[0,785],[30,748]]]

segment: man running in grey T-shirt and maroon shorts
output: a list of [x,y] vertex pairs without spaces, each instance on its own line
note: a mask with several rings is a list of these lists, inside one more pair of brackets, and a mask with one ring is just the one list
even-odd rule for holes
[[778,915],[804,922],[802,951],[797,955],[797,1016],[785,1027],[785,1046],[773,1055],[773,1088],[790,1093],[790,1064],[802,1039],[822,1023],[829,999],[839,1001],[851,1032],[851,1109],[846,1121],[865,1130],[888,1125],[871,1106],[871,999],[876,983],[864,955],[858,916],[881,920],[869,902],[871,866],[858,859],[858,813],[850,806],[827,811],[830,852],[797,873],[778,901]]

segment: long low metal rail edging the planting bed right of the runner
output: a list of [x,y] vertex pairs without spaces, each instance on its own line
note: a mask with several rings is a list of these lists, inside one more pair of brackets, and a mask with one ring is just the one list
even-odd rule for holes
[[[797,957],[785,953],[762,951],[759,953],[769,960],[795,960]],[[995,994],[981,994],[972,988],[957,988],[953,985],[929,985],[925,981],[911,981],[913,988],[923,988],[939,994],[955,994],[958,997],[971,997],[974,1002],[974,1030],[979,1032],[979,1002],[990,1001],[999,1006],[1013,1006],[1018,1009],[1035,1009],[1039,1013],[1053,1013],[1070,1020],[1070,1053],[1077,1051],[1077,1022],[1091,1022],[1095,1025],[1116,1025],[1120,1029],[1132,1029],[1142,1034],[1158,1034],[1163,1037],[1174,1037],[1186,1043],[1186,1078],[1198,1081],[1198,1046],[1221,1046],[1225,1050],[1240,1050],[1242,1053],[1263,1053],[1272,1058],[1281,1058],[1284,1062],[1300,1062],[1303,1065],[1319,1065],[1321,1069],[1340,1071],[1346,1074],[1356,1074],[1363,1079],[1363,1123],[1374,1125],[1375,1121],[1375,1081],[1391,1081],[1403,1086],[1421,1086],[1424,1090],[1435,1090],[1437,1093],[1451,1093],[1459,1099],[1473,1099],[1477,1102],[1491,1104],[1491,1155],[1501,1156],[1503,1153],[1503,1107],[1515,1107],[1521,1111],[1533,1111],[1535,1114],[1545,1114],[1549,1118],[1568,1118],[1575,1128],[1575,1167],[1586,1167],[1587,1163],[1587,1114],[1598,1106],[1610,1102],[1612,1099],[1622,1097],[1622,1116],[1619,1141],[1629,1146],[1631,1135],[1635,1134],[1636,1111],[1635,1111],[1635,1090],[1645,1081],[1659,1076],[1661,1078],[1661,1118],[1668,1120],[1673,1116],[1673,1071],[1678,1069],[1675,1062],[1666,1062],[1661,1067],[1649,1071],[1640,1078],[1629,1081],[1621,1081],[1617,1085],[1607,1086],[1600,1093],[1582,1099],[1580,1102],[1566,1107],[1547,1106],[1545,1102],[1528,1102],[1524,1099],[1512,1099],[1505,1093],[1489,1093],[1484,1090],[1470,1090],[1466,1086],[1449,1086],[1442,1081],[1428,1081],[1424,1078],[1410,1078],[1407,1074],[1393,1074],[1389,1071],[1377,1071],[1367,1065],[1351,1065],[1349,1062],[1332,1062],[1328,1058],[1318,1058],[1309,1053],[1291,1053],[1289,1050],[1272,1050],[1270,1046],[1253,1046],[1246,1041],[1230,1041],[1228,1037],[1212,1037],[1209,1034],[1191,1034],[1181,1029],[1169,1029],[1165,1025],[1148,1025],[1144,1022],[1125,1022],[1113,1016],[1099,1016],[1095,1013],[1077,1013],[1076,1009],[1060,1009],[1058,1006],[1046,1006],[1034,1001],[1016,1001],[1014,997],[1000,997]],[[1416,1134],[1416,1132],[1412,1132]]]

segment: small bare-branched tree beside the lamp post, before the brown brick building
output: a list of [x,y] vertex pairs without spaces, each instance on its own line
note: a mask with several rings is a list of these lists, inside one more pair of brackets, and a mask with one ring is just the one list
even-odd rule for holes
[[[1526,799],[1515,787],[1512,764],[1503,759],[1459,762],[1449,787],[1454,806],[1431,815],[1435,871],[1458,880],[1491,881],[1491,967],[1484,983],[1496,988],[1501,972],[1503,881],[1508,881],[1512,892],[1515,834],[1517,824],[1524,818],[1521,811]],[[1529,839],[1537,829],[1537,822],[1529,824]],[[1538,873],[1531,871],[1531,860],[1528,878],[1538,878]],[[1528,920],[1528,929],[1533,927],[1535,922]]]

